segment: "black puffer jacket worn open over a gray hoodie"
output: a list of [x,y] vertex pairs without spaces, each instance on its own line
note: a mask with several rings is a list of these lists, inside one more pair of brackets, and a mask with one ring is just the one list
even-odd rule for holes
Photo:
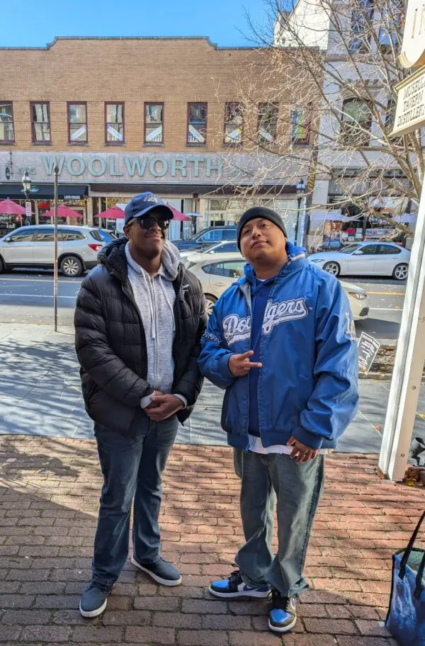
[[[145,331],[128,280],[126,242],[121,238],[102,249],[101,264],[81,285],[74,323],[86,411],[98,424],[134,435],[145,426],[140,424],[146,419],[140,399],[153,388],[146,380]],[[173,391],[188,402],[178,414],[183,422],[191,414],[203,382],[198,355],[206,327],[205,300],[198,278],[181,263],[173,285]]]

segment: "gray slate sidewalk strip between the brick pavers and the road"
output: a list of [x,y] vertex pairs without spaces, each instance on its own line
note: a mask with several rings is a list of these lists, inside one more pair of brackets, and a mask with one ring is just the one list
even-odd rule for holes
[[[0,324],[0,361],[0,434],[93,438],[81,398],[72,327],[55,334],[45,325]],[[339,450],[378,453],[390,381],[360,380],[359,388],[358,413]],[[225,445],[220,428],[222,395],[205,382],[195,412],[179,429],[179,443]],[[424,389],[414,435],[425,438]]]

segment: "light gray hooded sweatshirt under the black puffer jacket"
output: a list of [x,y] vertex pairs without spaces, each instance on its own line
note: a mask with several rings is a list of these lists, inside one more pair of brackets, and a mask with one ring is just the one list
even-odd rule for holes
[[[128,243],[125,245],[125,256],[128,263],[128,279],[145,329],[147,381],[154,390],[170,393],[174,381],[173,343],[176,336],[173,309],[176,293],[173,281],[177,278],[181,261],[179,249],[168,240],[165,242],[161,266],[152,278],[132,258]],[[186,399],[182,395],[176,392],[173,395],[179,397],[186,406]],[[145,408],[150,402],[149,395],[143,397],[140,405]]]

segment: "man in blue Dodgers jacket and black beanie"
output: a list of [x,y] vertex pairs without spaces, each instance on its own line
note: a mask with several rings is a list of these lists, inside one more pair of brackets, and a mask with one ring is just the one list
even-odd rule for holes
[[[356,334],[338,280],[287,242],[280,216],[247,210],[237,228],[245,276],[217,301],[200,369],[226,390],[222,428],[242,477],[239,570],[210,585],[223,599],[266,598],[287,633],[324,480],[324,453],[356,413]],[[277,496],[278,553],[271,551]]]

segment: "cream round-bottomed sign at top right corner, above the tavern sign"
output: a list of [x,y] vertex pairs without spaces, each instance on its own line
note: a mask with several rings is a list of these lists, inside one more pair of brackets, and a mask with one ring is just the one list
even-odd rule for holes
[[425,1],[409,0],[404,23],[402,53],[403,67],[425,65]]

